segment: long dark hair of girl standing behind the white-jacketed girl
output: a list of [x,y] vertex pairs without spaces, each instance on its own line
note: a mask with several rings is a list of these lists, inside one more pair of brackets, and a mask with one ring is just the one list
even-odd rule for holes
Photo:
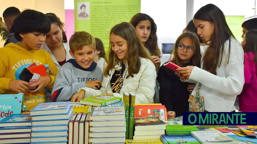
[[150,51],[152,55],[161,57],[161,52],[157,44],[157,26],[154,20],[149,15],[146,15],[144,13],[137,13],[131,18],[130,24],[136,27],[140,21],[144,20],[149,20],[151,22],[151,33],[148,40],[145,42],[145,47]]

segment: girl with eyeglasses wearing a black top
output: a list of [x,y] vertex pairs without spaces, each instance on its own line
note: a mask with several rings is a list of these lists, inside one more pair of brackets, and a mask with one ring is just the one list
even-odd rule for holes
[[[172,54],[173,58],[170,61],[180,67],[200,67],[200,43],[196,34],[189,31],[182,33],[176,40]],[[158,71],[157,80],[160,83],[160,102],[165,105],[168,118],[182,116],[183,112],[188,112],[190,83],[180,81],[174,71],[163,65]]]

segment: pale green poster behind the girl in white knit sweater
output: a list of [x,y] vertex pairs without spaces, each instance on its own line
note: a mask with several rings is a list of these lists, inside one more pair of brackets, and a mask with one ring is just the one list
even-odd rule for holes
[[243,38],[241,37],[242,32],[242,23],[244,22],[244,16],[225,16],[228,27],[234,34],[238,42],[242,42]]

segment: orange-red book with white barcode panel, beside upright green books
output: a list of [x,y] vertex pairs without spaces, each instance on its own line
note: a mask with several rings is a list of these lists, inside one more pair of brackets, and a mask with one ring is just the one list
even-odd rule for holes
[[164,105],[135,105],[134,118],[154,117],[167,121],[167,110]]

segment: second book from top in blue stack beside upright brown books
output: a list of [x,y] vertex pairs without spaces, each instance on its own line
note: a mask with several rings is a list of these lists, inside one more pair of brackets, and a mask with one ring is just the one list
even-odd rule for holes
[[41,120],[61,120],[67,119],[70,115],[73,114],[73,108],[69,107],[69,110],[66,114],[49,114],[49,115],[41,115],[41,116],[32,116],[32,121],[41,121]]

